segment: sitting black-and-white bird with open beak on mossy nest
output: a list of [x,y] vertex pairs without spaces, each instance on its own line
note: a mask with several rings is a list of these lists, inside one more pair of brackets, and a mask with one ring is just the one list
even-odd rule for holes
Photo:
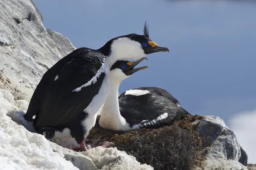
[[118,96],[120,83],[131,74],[147,68],[136,68],[145,57],[134,62],[117,61],[110,71],[111,92],[106,99],[99,126],[108,130],[127,131],[172,125],[189,113],[178,100],[162,88],[143,87],[125,91]]

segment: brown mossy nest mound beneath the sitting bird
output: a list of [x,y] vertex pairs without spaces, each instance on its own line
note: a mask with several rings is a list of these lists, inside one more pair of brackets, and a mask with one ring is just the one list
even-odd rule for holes
[[172,126],[158,129],[139,129],[113,132],[96,126],[90,131],[87,143],[113,142],[113,147],[136,157],[137,161],[150,164],[154,170],[191,170],[201,166],[202,142],[195,130],[195,120],[202,116],[184,116]]

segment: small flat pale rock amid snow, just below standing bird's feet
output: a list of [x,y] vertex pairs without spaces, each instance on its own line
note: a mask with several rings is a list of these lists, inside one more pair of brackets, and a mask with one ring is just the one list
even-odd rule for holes
[[49,141],[50,146],[52,147],[52,150],[59,153],[64,154],[64,158],[67,161],[71,161],[72,164],[79,168],[80,170],[96,170],[97,167],[93,163],[92,159],[89,157],[83,155],[82,153],[75,152],[73,150],[61,147],[58,144],[55,144],[53,142]]

